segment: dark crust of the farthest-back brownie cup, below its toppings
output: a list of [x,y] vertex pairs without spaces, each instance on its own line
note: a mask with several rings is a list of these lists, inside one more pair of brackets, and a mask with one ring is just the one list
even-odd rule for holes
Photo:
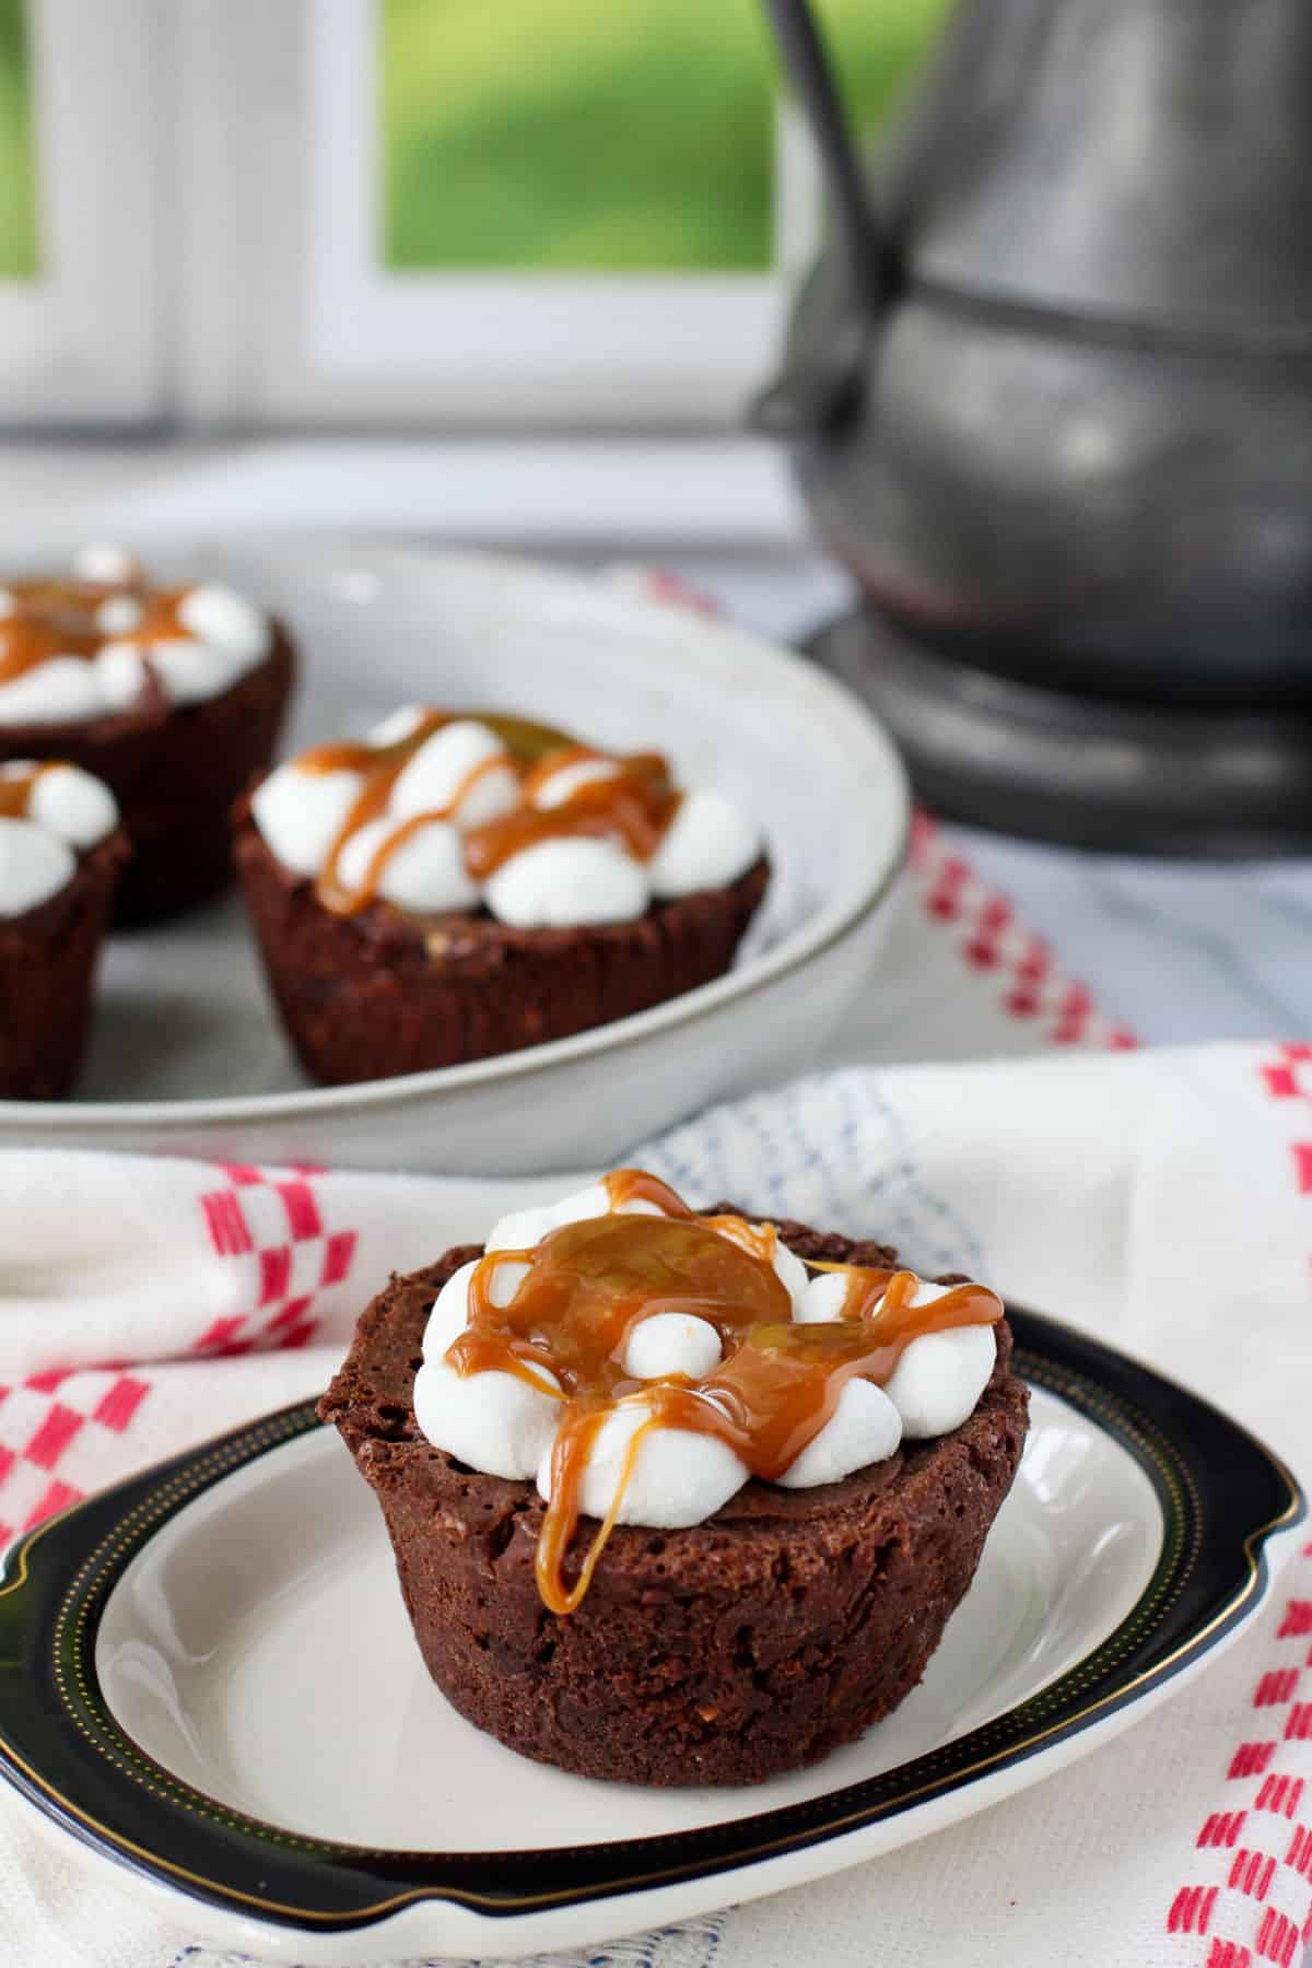
[[0,758],[69,760],[104,779],[132,840],[114,919],[151,923],[220,893],[232,880],[232,801],[273,758],[295,655],[273,647],[230,691],[169,705],[163,691],[75,724],[0,726]]

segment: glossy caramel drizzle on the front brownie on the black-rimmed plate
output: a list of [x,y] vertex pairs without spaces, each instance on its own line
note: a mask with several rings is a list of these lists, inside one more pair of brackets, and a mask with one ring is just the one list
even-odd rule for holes
[[[1003,1311],[984,1285],[954,1285],[930,1305],[913,1305],[915,1271],[824,1265],[850,1273],[842,1317],[799,1324],[773,1269],[773,1224],[696,1216],[641,1169],[620,1169],[606,1187],[612,1210],[643,1200],[665,1214],[596,1216],[553,1230],[531,1252],[482,1258],[470,1279],[468,1328],[447,1352],[460,1374],[513,1374],[539,1389],[543,1374],[553,1374],[559,1384],[551,1504],[537,1541],[537,1588],[555,1614],[574,1612],[586,1594],[649,1429],[710,1435],[751,1476],[773,1482],[820,1433],[848,1380],[862,1376],[881,1385],[913,1340],[993,1324]],[[509,1303],[494,1305],[498,1271],[525,1263],[529,1271]],[[702,1380],[627,1376],[627,1338],[653,1313],[708,1321],[720,1334],[720,1366]],[[647,1419],[629,1443],[606,1521],[567,1584],[592,1445],[608,1417],[637,1395]]]

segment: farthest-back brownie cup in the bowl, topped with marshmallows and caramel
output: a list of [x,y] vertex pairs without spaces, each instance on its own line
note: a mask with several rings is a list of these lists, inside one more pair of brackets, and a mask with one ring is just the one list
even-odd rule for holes
[[228,813],[277,742],[295,657],[232,588],[151,586],[116,547],[0,586],[0,758],[75,760],[134,854],[116,917],[148,923],[232,880]]

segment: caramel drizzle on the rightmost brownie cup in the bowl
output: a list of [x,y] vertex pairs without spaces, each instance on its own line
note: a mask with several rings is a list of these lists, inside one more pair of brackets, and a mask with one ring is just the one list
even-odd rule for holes
[[[435,732],[454,722],[454,712],[425,710],[415,730],[389,746],[323,744],[301,754],[297,764],[303,771],[354,771],[364,781],[319,876],[317,893],[327,909],[336,915],[356,915],[360,909],[368,909],[370,903],[378,901],[388,864],[405,842],[431,821],[450,821],[482,777],[507,766],[519,777],[519,805],[496,821],[470,827],[462,840],[464,866],[474,882],[486,882],[511,854],[519,854],[523,848],[578,834],[618,836],[637,860],[649,860],[655,854],[681,799],[661,754],[639,752],[631,758],[612,758],[525,718],[504,718],[480,710],[464,712],[464,716],[488,724],[502,738],[506,750],[472,766],[447,805],[397,821],[388,838],[378,844],[356,888],[340,878],[346,842],[370,821],[386,815],[405,766]],[[606,764],[614,764],[616,771],[584,781],[559,807],[539,809],[533,805],[541,787],[557,771],[584,760],[606,760]]]

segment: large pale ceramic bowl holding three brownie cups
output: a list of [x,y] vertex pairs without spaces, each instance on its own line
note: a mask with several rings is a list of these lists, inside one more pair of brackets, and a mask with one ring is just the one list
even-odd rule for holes
[[[669,1122],[806,1065],[867,986],[909,799],[883,730],[805,659],[600,581],[474,553],[283,537],[130,541],[293,630],[287,750],[401,703],[519,710],[665,750],[759,821],[773,880],[734,970],[572,1039],[401,1080],[315,1088],[258,974],[240,903],[114,937],[69,1102],[0,1102],[0,1145],[529,1173],[612,1161]],[[67,541],[26,549],[55,565]]]

